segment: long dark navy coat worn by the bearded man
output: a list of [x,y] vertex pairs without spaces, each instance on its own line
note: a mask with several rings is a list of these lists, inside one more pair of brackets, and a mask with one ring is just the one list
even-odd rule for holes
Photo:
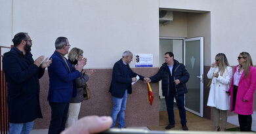
[[45,69],[33,64],[32,54],[25,56],[13,47],[3,57],[3,69],[7,80],[7,104],[9,120],[14,124],[32,122],[43,118],[39,103],[39,78]]

